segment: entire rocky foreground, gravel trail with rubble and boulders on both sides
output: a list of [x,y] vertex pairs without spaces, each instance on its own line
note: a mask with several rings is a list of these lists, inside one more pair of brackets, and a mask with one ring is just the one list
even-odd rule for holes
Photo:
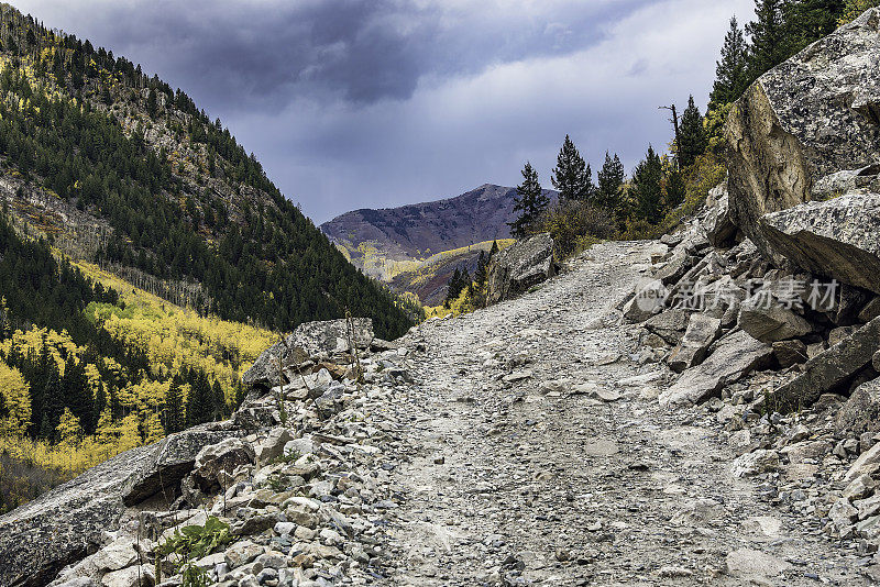
[[0,516],[0,586],[880,582],[879,40],[759,78],[660,241],[524,239],[394,342],[300,324],[230,420]]

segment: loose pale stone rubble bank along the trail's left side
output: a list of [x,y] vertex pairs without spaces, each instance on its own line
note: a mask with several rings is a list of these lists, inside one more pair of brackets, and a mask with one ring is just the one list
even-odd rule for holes
[[[160,557],[156,550],[175,531],[204,528],[211,517],[228,524],[230,541],[193,562],[210,584],[326,587],[382,579],[385,529],[403,500],[391,473],[404,422],[388,407],[410,385],[410,350],[406,337],[374,340],[365,320],[355,339],[367,342],[354,353],[338,336],[344,322],[300,328],[292,339],[311,344],[310,352],[288,352],[280,365],[285,345],[267,350],[249,373],[253,391],[229,422],[237,434],[202,446],[176,487],[166,484],[124,510],[119,529],[101,533],[99,550],[51,585],[182,585],[179,555]],[[305,331],[308,341],[301,341]],[[268,387],[282,383],[276,378],[283,385]]]

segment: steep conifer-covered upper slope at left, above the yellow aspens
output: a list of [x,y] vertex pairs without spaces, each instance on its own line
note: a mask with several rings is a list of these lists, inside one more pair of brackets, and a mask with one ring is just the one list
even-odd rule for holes
[[0,187],[19,220],[222,318],[285,331],[348,309],[384,337],[410,325],[186,93],[0,12]]

